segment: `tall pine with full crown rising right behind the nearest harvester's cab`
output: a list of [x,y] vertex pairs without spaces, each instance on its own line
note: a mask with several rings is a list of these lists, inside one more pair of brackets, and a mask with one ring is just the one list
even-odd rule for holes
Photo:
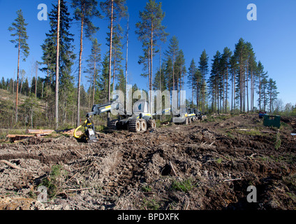
[[[140,22],[136,23],[138,39],[142,42],[145,48],[145,57],[149,57],[149,90],[152,90],[152,69],[153,69],[153,56],[157,41],[165,41],[167,33],[165,33],[165,27],[161,24],[165,13],[161,9],[162,3],[156,3],[155,0],[149,0],[146,3],[145,9],[140,11]],[[150,94],[150,102],[152,96]]]

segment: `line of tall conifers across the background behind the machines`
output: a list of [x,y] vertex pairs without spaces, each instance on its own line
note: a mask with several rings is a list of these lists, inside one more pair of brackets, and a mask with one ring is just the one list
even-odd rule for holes
[[[73,15],[69,8],[73,8]],[[8,119],[8,126],[51,125],[59,128],[79,125],[93,104],[110,102],[113,90],[126,92],[128,27],[131,26],[126,0],[59,0],[52,4],[48,18],[50,30],[40,45],[43,56],[40,61],[31,63],[31,71],[20,69],[20,59],[26,61],[30,51],[28,24],[22,10],[17,11],[17,18],[8,28],[12,37],[10,42],[18,50],[17,78],[2,78],[0,83],[2,89],[16,96],[15,102],[0,104],[1,111],[5,111],[4,106],[13,111],[9,118],[2,113],[3,118]],[[110,32],[105,43],[98,43],[99,27],[93,22],[103,18],[109,21]],[[204,50],[200,57],[191,59],[186,68],[186,55],[179,48],[177,36],[169,39],[167,49],[161,48],[169,35],[162,24],[163,18],[161,2],[149,0],[135,24],[135,34],[142,43],[138,63],[143,67],[141,76],[148,78],[147,90],[189,88],[191,92],[186,93],[188,106],[198,108],[202,113],[287,111],[283,102],[277,99],[276,81],[256,59],[251,43],[240,38],[235,48],[225,47],[212,59]],[[73,21],[79,23],[79,36],[71,34]],[[74,45],[75,38],[80,39],[79,46]],[[91,54],[83,59],[82,66],[85,39],[91,43]],[[108,45],[107,52],[101,52],[101,44]],[[75,55],[77,48],[79,54]],[[156,55],[159,61],[155,59]],[[43,72],[44,78],[38,76],[38,71]],[[77,78],[74,73],[78,73]],[[82,76],[87,77],[87,86],[82,85]],[[136,84],[133,85],[135,90],[138,90]],[[18,94],[28,96],[21,105]],[[293,113],[295,107],[291,105],[289,113]]]

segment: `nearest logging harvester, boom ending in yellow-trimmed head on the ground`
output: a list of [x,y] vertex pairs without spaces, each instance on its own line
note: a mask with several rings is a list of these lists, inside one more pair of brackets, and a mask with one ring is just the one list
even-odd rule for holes
[[[154,129],[156,121],[152,118],[149,107],[149,102],[140,99],[133,106],[133,114],[129,115],[121,103],[110,102],[108,104],[96,104],[92,107],[90,113],[87,113],[87,120],[82,125],[77,127],[74,132],[74,137],[84,142],[95,142],[98,140],[92,122],[92,117],[101,113],[109,112],[112,109],[119,114],[117,120],[111,120],[108,127],[112,130],[128,130],[129,132],[145,132],[149,127]],[[81,127],[84,127],[84,133],[77,136],[76,132]]]

